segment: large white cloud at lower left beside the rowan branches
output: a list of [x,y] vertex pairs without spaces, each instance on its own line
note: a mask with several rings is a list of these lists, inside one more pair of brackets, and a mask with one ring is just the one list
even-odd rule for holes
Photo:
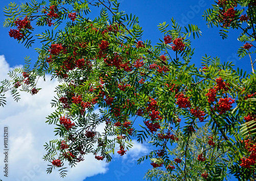
[[[6,62],[3,55],[0,56],[0,79],[8,78],[6,74],[13,70]],[[38,87],[42,89],[32,96],[29,93],[20,93],[21,100],[17,103],[12,99],[10,93],[6,94],[7,105],[0,107],[0,145],[4,144],[4,126],[9,129],[9,151],[8,151],[8,177],[4,180],[28,181],[28,180],[59,180],[58,169],[47,174],[47,163],[42,157],[46,153],[45,142],[54,137],[54,126],[48,125],[46,117],[54,111],[50,102],[54,98],[56,80],[46,82],[38,81]],[[3,146],[1,146],[3,148]],[[3,151],[3,150],[2,150]],[[108,171],[108,164],[97,161],[94,155],[86,155],[83,162],[78,163],[75,168],[68,168],[68,175],[61,180],[83,180],[86,177]],[[4,154],[0,154],[0,162],[4,162]],[[67,165],[68,166],[68,165]],[[1,173],[1,178],[3,172]]]

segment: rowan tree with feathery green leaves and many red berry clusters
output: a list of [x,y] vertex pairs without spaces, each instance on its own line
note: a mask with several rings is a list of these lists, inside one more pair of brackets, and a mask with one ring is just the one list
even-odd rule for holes
[[[240,28],[239,40],[247,43],[238,53],[251,57],[255,2],[216,3],[205,12],[208,25],[220,26],[224,38],[227,28]],[[91,20],[93,6],[101,12]],[[247,14],[242,16],[243,10],[235,8],[245,8]],[[207,55],[202,57],[202,67],[195,67],[189,38],[201,35],[196,25],[180,27],[172,18],[169,28],[163,22],[159,24],[163,36],[153,46],[150,40],[141,39],[138,17],[120,11],[115,0],[32,0],[20,6],[11,3],[5,13],[9,35],[27,48],[34,41],[34,30],[46,27],[36,35],[42,42],[42,47],[36,48],[37,62],[32,68],[27,58],[23,69],[10,73],[12,81],[2,81],[0,103],[5,104],[8,90],[16,100],[18,89],[36,94],[40,91],[38,77],[50,74],[58,79],[58,96],[52,102],[56,110],[46,122],[56,125],[60,139],[46,144],[48,173],[59,167],[60,176],[65,176],[64,161],[75,166],[84,154],[110,162],[111,153],[126,154],[132,147],[131,139],[136,138],[156,147],[138,163],[150,159],[153,167],[175,170],[177,174],[169,174],[170,178],[188,180],[200,175],[201,179],[218,180],[218,174],[211,174],[219,167],[216,155],[207,154],[217,150],[219,156],[228,156],[228,167],[236,177],[245,180],[255,176],[256,79],[252,58],[249,74],[234,70],[232,62],[222,64],[218,57]],[[64,23],[65,28],[59,28]],[[50,31],[49,27],[54,28]],[[98,132],[102,124],[104,131]],[[198,155],[191,156],[193,133],[204,124],[211,127],[211,147],[202,145]],[[171,147],[176,143],[181,146],[173,152]],[[195,162],[196,167],[190,170]]]

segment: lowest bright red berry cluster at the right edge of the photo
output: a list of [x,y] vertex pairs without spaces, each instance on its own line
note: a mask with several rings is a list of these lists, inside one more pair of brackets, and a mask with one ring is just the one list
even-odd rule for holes
[[241,159],[242,164],[240,164],[240,166],[244,168],[251,168],[251,166],[255,165],[256,163],[256,145],[253,144],[251,140],[244,140],[241,142],[245,143],[245,149],[250,155],[248,158],[243,157],[243,159]]

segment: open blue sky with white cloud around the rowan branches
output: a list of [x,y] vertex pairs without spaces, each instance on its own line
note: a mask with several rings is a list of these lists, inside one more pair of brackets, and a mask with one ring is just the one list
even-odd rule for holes
[[[16,3],[29,2],[26,0],[17,0]],[[135,14],[139,17],[140,26],[143,28],[142,41],[152,40],[156,45],[163,34],[158,31],[159,23],[166,21],[171,24],[170,19],[174,17],[179,25],[187,26],[195,24],[201,29],[202,36],[192,40],[191,46],[195,49],[195,54],[191,62],[201,66],[201,57],[207,54],[212,57],[220,57],[221,62],[233,61],[235,67],[250,71],[249,58],[239,59],[237,50],[243,44],[237,40],[240,31],[232,30],[228,39],[222,40],[217,28],[208,29],[206,21],[203,20],[203,12],[211,7],[214,1],[135,1],[120,0],[120,10],[127,14]],[[9,0],[2,0],[0,7],[8,6]],[[97,16],[97,11],[92,12]],[[4,12],[0,12],[0,20],[5,19]],[[0,27],[0,79],[8,78],[6,74],[13,67],[22,66],[24,57],[30,56],[32,62],[37,59],[37,54],[33,48],[39,47],[35,43],[32,48],[26,49],[22,44],[9,37],[10,28]],[[49,80],[50,76],[47,77]],[[0,108],[0,128],[8,126],[10,128],[10,170],[8,178],[3,178],[0,172],[0,178],[3,180],[143,180],[147,169],[152,168],[149,161],[137,165],[136,160],[144,155],[150,149],[148,145],[135,144],[135,147],[121,157],[115,155],[113,162],[106,164],[103,161],[96,161],[93,156],[87,156],[86,160],[76,168],[72,168],[67,178],[60,179],[58,172],[54,171],[51,175],[46,173],[46,163],[41,157],[45,154],[42,145],[52,140],[54,137],[54,126],[45,123],[45,117],[53,111],[50,101],[53,99],[54,86],[57,82],[43,82],[39,80],[39,85],[43,89],[38,95],[31,96],[22,93],[22,100],[16,103],[11,96],[7,94],[8,103],[5,108]],[[15,110],[15,112],[13,111]],[[97,111],[97,110],[96,110]],[[0,130],[1,132],[1,130]],[[0,145],[3,145],[3,139]],[[2,155],[1,155],[2,156]],[[2,163],[2,157],[0,162]],[[233,179],[234,180],[234,179]]]

